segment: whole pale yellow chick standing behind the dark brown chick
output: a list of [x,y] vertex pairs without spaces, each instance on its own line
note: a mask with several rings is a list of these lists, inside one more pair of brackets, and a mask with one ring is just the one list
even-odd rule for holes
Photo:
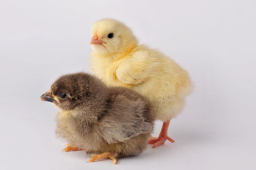
[[169,122],[185,105],[191,93],[187,71],[174,60],[138,40],[130,28],[112,18],[97,21],[91,27],[91,72],[108,86],[123,86],[149,99],[162,120],[159,137],[151,137],[153,147],[163,145]]

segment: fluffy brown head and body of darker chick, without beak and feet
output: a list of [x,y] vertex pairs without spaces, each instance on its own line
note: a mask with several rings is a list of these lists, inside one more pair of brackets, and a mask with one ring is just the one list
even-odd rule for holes
[[[60,98],[60,94],[67,98]],[[108,88],[89,74],[60,77],[50,89],[58,113],[58,137],[87,152],[137,155],[147,147],[154,112],[147,99],[125,88]]]

